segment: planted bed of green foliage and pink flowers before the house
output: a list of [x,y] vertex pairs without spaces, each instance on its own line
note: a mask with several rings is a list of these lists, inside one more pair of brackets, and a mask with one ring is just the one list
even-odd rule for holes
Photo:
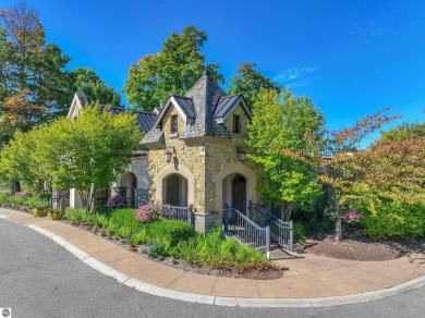
[[210,276],[277,279],[282,271],[265,254],[226,238],[219,227],[196,233],[183,221],[160,218],[153,205],[88,212],[68,208],[63,222],[89,231],[141,256],[173,268]]

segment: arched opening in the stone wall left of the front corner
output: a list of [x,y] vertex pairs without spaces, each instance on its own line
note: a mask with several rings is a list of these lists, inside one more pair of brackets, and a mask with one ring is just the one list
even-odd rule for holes
[[171,173],[163,179],[162,183],[162,204],[187,206],[187,180],[183,175]]

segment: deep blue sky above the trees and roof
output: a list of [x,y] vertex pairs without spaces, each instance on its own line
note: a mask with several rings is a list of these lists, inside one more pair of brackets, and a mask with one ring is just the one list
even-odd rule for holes
[[[2,0],[1,8],[17,1]],[[27,1],[47,39],[121,90],[132,62],[171,32],[205,30],[203,52],[230,77],[244,62],[306,95],[331,129],[393,107],[425,119],[425,1]]]

